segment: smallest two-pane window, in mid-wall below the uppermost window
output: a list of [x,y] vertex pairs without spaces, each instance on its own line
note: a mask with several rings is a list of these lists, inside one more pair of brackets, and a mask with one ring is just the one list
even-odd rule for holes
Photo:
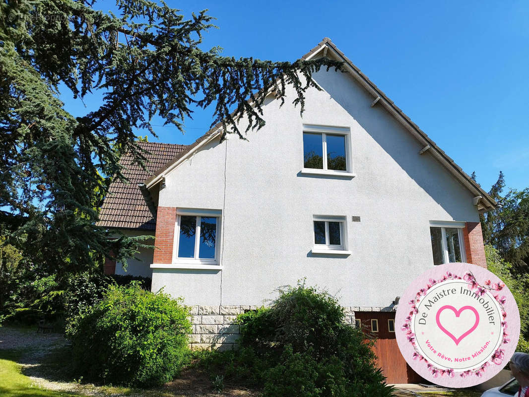
[[320,216],[315,215],[314,228],[314,254],[334,253],[350,254],[346,251],[345,216]]

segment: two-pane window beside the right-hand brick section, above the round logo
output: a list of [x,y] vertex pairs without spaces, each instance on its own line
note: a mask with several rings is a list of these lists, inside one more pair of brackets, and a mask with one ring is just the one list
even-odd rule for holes
[[453,224],[430,222],[434,265],[465,261],[463,228],[464,222],[454,222]]

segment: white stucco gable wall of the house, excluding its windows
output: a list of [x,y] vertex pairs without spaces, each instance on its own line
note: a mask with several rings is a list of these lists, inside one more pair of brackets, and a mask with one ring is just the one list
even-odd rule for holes
[[[222,210],[223,270],[154,269],[153,291],[165,286],[190,305],[258,305],[306,277],[343,305],[384,307],[433,266],[430,221],[478,221],[471,193],[428,152],[418,155],[421,145],[370,107],[350,76],[321,71],[315,80],[324,91],[307,93],[303,117],[290,101],[272,101],[249,141],[210,143],[166,175],[159,205]],[[351,129],[354,178],[299,174],[303,124]],[[311,254],[315,214],[347,217],[352,255]]]

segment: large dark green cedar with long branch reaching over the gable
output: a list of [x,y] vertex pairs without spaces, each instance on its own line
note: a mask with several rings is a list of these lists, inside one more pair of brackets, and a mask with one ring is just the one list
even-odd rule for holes
[[[94,267],[111,250],[118,259],[134,252],[138,241],[110,240],[94,225],[95,209],[110,177],[123,177],[124,152],[144,164],[135,133],[154,134],[153,116],[183,130],[194,107],[214,105],[212,125],[244,138],[237,120],[261,128],[267,94],[283,103],[290,84],[303,111],[306,90],[320,89],[312,74],[341,65],[223,57],[200,48],[213,27],[205,11],[185,19],[165,3],[117,0],[115,15],[94,3],[0,2],[0,223],[10,242],[23,236],[24,255],[59,273]],[[103,101],[74,116],[59,89]]]

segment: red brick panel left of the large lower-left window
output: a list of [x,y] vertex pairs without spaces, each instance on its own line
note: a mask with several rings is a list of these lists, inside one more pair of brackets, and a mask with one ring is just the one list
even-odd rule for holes
[[172,243],[175,237],[176,207],[158,207],[153,263],[172,263]]

